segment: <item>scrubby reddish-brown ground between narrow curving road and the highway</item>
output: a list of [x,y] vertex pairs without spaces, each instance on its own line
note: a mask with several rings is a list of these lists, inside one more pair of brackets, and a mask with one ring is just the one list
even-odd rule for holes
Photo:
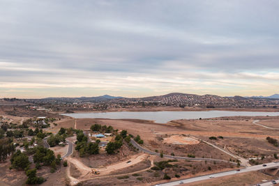
[[[156,157],[154,162],[167,161],[164,158]],[[164,182],[163,176],[167,173],[168,176],[172,178],[172,180],[177,180],[175,174],[181,176],[182,178],[190,178],[193,176],[200,176],[204,174],[214,173],[216,171],[227,171],[231,170],[232,165],[227,164],[225,162],[170,162],[172,164],[171,167],[165,168],[163,171],[158,170],[147,170],[136,174],[127,174],[124,176],[113,176],[110,179],[107,178],[99,178],[94,180],[84,181],[84,185],[152,185],[156,183]],[[209,166],[211,167],[211,171],[209,171]],[[234,168],[235,169],[235,168]],[[139,179],[137,179],[139,178]]]

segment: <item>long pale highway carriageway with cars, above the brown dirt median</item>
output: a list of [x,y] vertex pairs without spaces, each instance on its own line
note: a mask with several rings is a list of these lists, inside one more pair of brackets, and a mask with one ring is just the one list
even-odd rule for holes
[[279,162],[271,162],[271,163],[266,164],[266,166],[262,166],[262,164],[259,164],[259,165],[250,166],[250,167],[241,169],[240,171],[226,171],[226,172],[221,172],[221,173],[214,173],[214,174],[211,174],[211,175],[199,176],[199,177],[195,177],[195,178],[188,178],[188,179],[185,179],[185,180],[178,180],[178,181],[174,181],[174,182],[163,183],[163,184],[160,184],[160,185],[162,185],[162,186],[173,186],[173,185],[179,185],[179,184],[181,184],[181,182],[183,182],[183,183],[193,183],[193,182],[202,181],[202,180],[210,180],[212,178],[220,178],[220,177],[223,177],[223,176],[236,175],[238,173],[247,173],[247,172],[250,172],[250,171],[259,171],[259,170],[263,170],[263,169],[276,168],[276,167],[279,168]]

